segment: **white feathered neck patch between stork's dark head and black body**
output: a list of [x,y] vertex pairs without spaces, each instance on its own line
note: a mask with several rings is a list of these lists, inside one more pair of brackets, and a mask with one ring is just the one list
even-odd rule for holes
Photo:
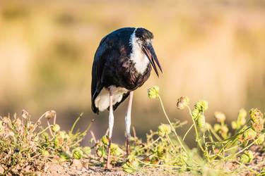
[[136,71],[140,74],[143,74],[146,71],[149,60],[146,57],[146,54],[143,53],[141,47],[136,41],[135,31],[136,30],[134,30],[134,33],[131,34],[130,38],[130,44],[132,48],[130,60],[135,63],[134,68],[136,68]]

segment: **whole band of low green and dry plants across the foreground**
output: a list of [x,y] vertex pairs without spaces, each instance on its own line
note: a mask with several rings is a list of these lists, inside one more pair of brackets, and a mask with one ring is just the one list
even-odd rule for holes
[[[225,114],[214,113],[216,124],[206,122],[207,101],[197,101],[193,108],[189,106],[189,98],[177,99],[177,108],[189,112],[192,125],[183,137],[177,130],[187,122],[170,120],[159,87],[148,89],[151,99],[160,101],[167,124],[161,124],[156,131],[146,134],[146,142],[134,135],[130,140],[130,151],[126,157],[125,146],[112,143],[111,163],[122,166],[128,173],[160,172],[163,174],[188,173],[194,175],[225,175],[239,172],[250,172],[254,175],[264,174],[264,169],[253,165],[255,152],[252,146],[264,144],[264,116],[257,108],[249,111],[241,109],[237,120],[232,121],[229,130],[225,123]],[[23,111],[20,118],[1,117],[0,120],[0,173],[2,175],[18,175],[43,170],[47,163],[71,162],[87,160],[89,165],[104,166],[107,161],[108,137],[90,140],[92,146],[80,146],[90,125],[84,132],[75,131],[76,119],[68,132],[61,130],[56,122],[56,112],[47,111],[37,122],[30,120],[28,112]],[[47,127],[43,127],[43,121]],[[192,130],[195,134],[197,148],[190,149],[186,137]],[[93,134],[93,132],[91,132]],[[262,148],[262,147],[261,147]],[[224,165],[231,164],[232,167]]]

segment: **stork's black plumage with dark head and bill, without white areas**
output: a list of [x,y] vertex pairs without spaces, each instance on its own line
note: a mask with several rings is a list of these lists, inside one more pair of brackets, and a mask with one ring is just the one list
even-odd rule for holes
[[[151,74],[151,65],[158,75],[155,67],[155,62],[160,68],[156,56],[147,56],[150,63],[146,66],[143,73],[137,72],[135,63],[130,59],[132,53],[131,35],[135,32],[135,37],[141,39],[143,43],[143,53],[146,55],[155,55],[154,51],[148,51],[146,40],[153,39],[153,34],[144,28],[124,27],[115,30],[107,36],[103,37],[95,52],[92,70],[92,84],[91,84],[91,97],[92,97],[92,110],[94,113],[99,113],[99,109],[95,106],[95,99],[100,94],[102,89],[108,89],[110,86],[124,87],[129,91],[134,91],[141,87]],[[153,47],[151,47],[153,50]],[[146,53],[147,52],[147,53]],[[151,57],[151,58],[150,58]],[[155,61],[154,61],[155,59]],[[161,70],[161,68],[160,68]],[[124,101],[129,92],[123,94],[122,100],[113,105],[115,110],[122,101]]]

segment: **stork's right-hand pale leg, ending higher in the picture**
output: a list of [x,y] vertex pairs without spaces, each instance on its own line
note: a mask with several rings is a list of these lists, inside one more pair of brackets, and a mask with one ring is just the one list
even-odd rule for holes
[[129,94],[129,103],[127,108],[127,113],[125,116],[125,128],[126,128],[126,156],[129,156],[129,138],[131,137],[130,134],[130,127],[131,127],[131,105],[132,105],[132,99],[134,96],[134,92],[131,91]]

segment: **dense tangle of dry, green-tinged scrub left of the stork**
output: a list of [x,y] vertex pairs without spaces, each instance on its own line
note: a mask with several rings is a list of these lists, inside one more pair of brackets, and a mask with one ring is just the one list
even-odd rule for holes
[[[81,114],[82,115],[82,114]],[[76,122],[81,118],[76,119]],[[48,126],[43,128],[41,121]],[[50,125],[50,120],[53,124]],[[30,120],[30,114],[23,111],[21,117],[1,117],[0,120],[0,170],[3,175],[30,174],[43,170],[47,162],[69,161],[90,155],[89,147],[80,147],[80,142],[89,130],[73,132],[60,130],[56,124],[55,111],[47,111],[37,122]],[[47,132],[49,131],[49,133]]]

